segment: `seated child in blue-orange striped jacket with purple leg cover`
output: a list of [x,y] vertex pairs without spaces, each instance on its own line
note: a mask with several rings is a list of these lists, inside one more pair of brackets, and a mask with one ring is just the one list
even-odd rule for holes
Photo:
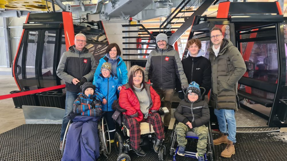
[[102,114],[101,101],[91,82],[81,85],[82,93],[74,101],[74,110],[69,114],[73,123],[67,133],[62,161],[94,161],[100,156],[98,119]]

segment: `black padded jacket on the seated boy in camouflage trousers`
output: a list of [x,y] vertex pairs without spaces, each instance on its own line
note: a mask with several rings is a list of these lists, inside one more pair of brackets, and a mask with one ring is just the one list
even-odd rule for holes
[[179,106],[174,112],[174,118],[184,124],[191,122],[192,127],[205,125],[210,119],[208,104],[202,101],[201,97],[194,102],[185,97],[185,100],[179,102]]

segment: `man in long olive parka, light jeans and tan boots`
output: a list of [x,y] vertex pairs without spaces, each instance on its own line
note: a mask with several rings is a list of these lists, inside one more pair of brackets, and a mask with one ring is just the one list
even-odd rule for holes
[[[213,45],[208,49],[212,66],[209,105],[214,108],[220,130],[220,137],[213,140],[213,143],[214,145],[227,144],[221,156],[230,158],[235,154],[235,111],[239,108],[238,80],[246,72],[246,66],[241,53],[229,40],[223,38],[220,28],[212,28],[210,38]],[[226,120],[228,129],[226,129]]]

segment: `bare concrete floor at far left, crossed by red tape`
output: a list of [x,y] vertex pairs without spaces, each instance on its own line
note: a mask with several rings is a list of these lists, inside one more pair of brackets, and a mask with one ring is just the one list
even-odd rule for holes
[[[11,74],[0,75],[0,88],[0,95],[7,95],[11,91],[19,90]],[[25,124],[23,110],[15,108],[12,98],[0,100],[0,111],[0,133]]]

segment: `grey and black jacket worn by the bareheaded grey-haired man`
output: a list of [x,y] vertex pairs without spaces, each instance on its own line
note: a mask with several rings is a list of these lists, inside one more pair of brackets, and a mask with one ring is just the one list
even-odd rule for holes
[[81,80],[85,77],[87,81],[93,81],[95,70],[94,55],[85,47],[83,51],[78,51],[73,45],[63,53],[56,72],[65,81],[67,91],[80,92],[80,86],[72,83],[73,78]]

